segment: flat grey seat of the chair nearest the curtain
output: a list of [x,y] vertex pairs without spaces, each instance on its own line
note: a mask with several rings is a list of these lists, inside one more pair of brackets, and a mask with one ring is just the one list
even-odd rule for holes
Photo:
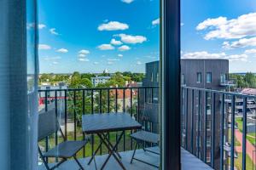
[[65,141],[55,146],[55,148],[44,153],[44,157],[61,157],[69,158],[74,156],[84,145],[87,140],[83,141]]

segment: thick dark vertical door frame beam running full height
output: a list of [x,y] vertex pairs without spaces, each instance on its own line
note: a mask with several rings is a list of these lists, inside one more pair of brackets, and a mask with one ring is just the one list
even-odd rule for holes
[[161,169],[180,164],[180,0],[161,1]]

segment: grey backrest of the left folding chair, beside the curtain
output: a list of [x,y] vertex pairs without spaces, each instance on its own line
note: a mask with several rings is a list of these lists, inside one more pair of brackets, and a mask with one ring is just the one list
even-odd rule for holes
[[39,114],[38,118],[38,141],[56,133],[60,128],[55,116],[55,110]]

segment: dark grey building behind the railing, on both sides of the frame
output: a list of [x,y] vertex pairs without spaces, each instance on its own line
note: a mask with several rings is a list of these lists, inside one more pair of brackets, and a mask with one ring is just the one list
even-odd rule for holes
[[[160,62],[159,61],[154,61],[150,63],[146,63],[146,75],[143,80],[143,87],[144,86],[159,86],[160,83],[160,75],[159,71],[160,70]],[[234,82],[229,81],[229,60],[228,59],[181,59],[181,85],[186,86],[186,87],[193,87],[193,88],[207,88],[207,89],[214,89],[214,90],[219,90],[219,91],[224,91],[230,89],[231,86],[235,86]],[[172,88],[172,87],[170,87]],[[140,102],[145,102],[144,99],[146,99],[146,102],[151,101],[151,95],[150,92],[147,92],[148,96],[147,98],[144,98],[145,92],[141,92],[142,99],[140,99]],[[186,97],[187,94],[183,94],[183,98]],[[187,129],[191,129],[191,94],[189,92],[189,99],[188,99],[188,122],[189,122],[189,127]],[[205,94],[201,94],[201,105],[205,105]],[[198,94],[195,93],[195,99],[196,101],[198,99]],[[154,102],[159,101],[159,90],[155,90],[154,92]],[[183,99],[184,101],[184,99]],[[142,103],[142,107],[143,107]],[[196,102],[195,102],[196,103]],[[219,98],[216,97],[215,101],[215,156],[217,156],[219,152],[219,141],[220,141],[220,130],[219,130],[219,121],[220,121],[220,103],[219,103]],[[211,161],[211,122],[212,122],[212,96],[211,94],[207,94],[207,122],[201,122],[201,127],[207,126],[207,162]],[[201,106],[201,120],[205,120],[205,107]],[[194,107],[194,122],[197,124],[197,116],[196,114],[198,113],[198,105],[195,104]],[[226,120],[228,120],[228,117],[226,117]],[[226,121],[227,122],[227,121]],[[228,123],[226,123],[228,124]],[[184,126],[184,125],[182,125]],[[194,126],[194,132],[196,132],[196,126]],[[203,129],[203,128],[202,128]],[[193,140],[197,141],[197,138],[200,138],[200,144],[201,144],[201,150],[204,147],[204,136],[206,129],[201,130],[201,136],[198,137],[195,133],[193,136]],[[185,132],[183,132],[185,133]],[[225,131],[225,135],[227,135],[227,131]],[[191,133],[190,130],[188,132],[188,138],[190,140]],[[226,138],[228,139],[228,138]],[[192,147],[189,144],[189,148]],[[196,148],[197,144],[196,142],[193,144],[193,148]],[[200,157],[203,157],[204,153],[200,152]],[[220,161],[219,157],[215,157],[216,164]],[[217,167],[218,169],[218,167]]]

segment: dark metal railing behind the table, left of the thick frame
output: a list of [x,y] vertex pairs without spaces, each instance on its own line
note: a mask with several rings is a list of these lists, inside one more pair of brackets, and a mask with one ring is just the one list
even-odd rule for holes
[[[142,105],[145,101],[156,102],[158,87],[136,88],[82,88],[82,89],[45,89],[38,90],[39,112],[54,109],[60,117],[61,128],[67,139],[84,139],[81,129],[81,117],[84,114],[128,112],[138,122],[141,122]],[[155,131],[152,122],[144,122],[148,131]],[[119,151],[133,150],[134,141],[130,138],[132,132],[125,132],[123,141],[118,146]],[[119,133],[111,133],[111,141],[118,139]],[[40,142],[45,151],[50,145],[58,144],[61,138],[56,133],[54,137],[46,138]],[[92,135],[91,144],[87,144],[78,157],[92,156],[99,140]],[[101,146],[100,155],[107,154],[108,150]],[[48,160],[47,160],[48,161]],[[49,162],[58,160],[49,160]]]

